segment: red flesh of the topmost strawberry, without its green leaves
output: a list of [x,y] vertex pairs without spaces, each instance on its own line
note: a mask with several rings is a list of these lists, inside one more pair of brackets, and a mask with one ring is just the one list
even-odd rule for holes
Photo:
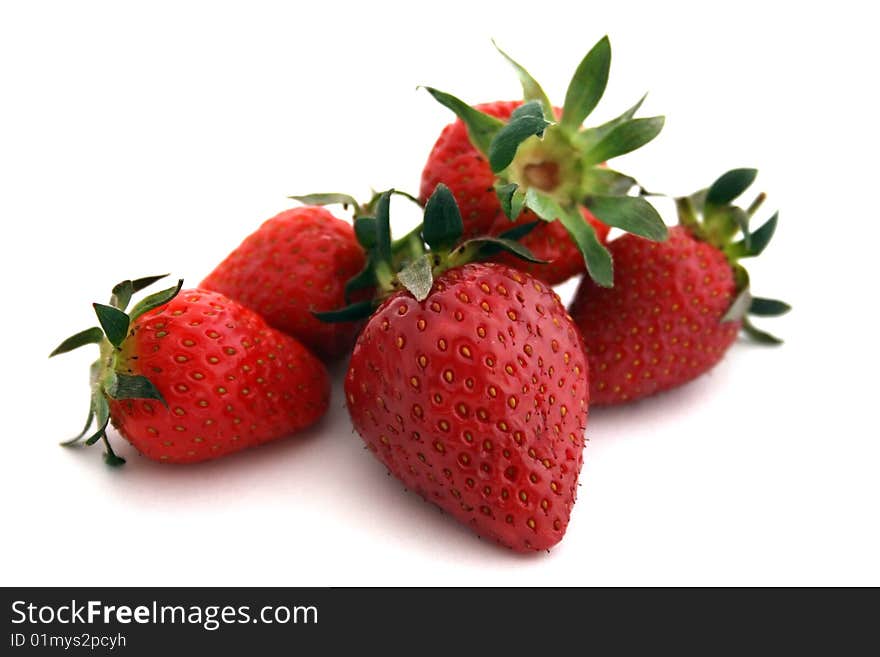
[[[490,116],[508,120],[510,114],[523,101],[498,101],[477,105],[476,109]],[[554,110],[559,112],[557,108]],[[535,170],[534,176],[540,175]],[[512,224],[501,209],[495,193],[495,174],[488,160],[471,144],[467,128],[461,119],[446,126],[434,144],[428,162],[422,172],[419,198],[424,203],[439,183],[444,183],[452,191],[464,220],[464,236],[500,235],[514,225],[523,225],[540,218],[526,208]],[[549,182],[548,182],[549,184]],[[604,243],[609,227],[596,219],[587,208],[582,207],[584,219],[593,226],[599,241]],[[517,262],[515,266],[551,285],[568,280],[584,271],[584,261],[580,251],[565,227],[558,221],[541,223],[526,235],[522,244],[527,246],[537,258],[547,264]],[[514,265],[511,256],[504,254],[499,260]]]

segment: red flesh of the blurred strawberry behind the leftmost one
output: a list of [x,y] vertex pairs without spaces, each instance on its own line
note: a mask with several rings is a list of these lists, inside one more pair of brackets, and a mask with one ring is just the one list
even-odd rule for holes
[[354,342],[354,323],[325,324],[312,311],[345,305],[345,281],[364,267],[351,224],[321,207],[285,210],[249,235],[201,283],[262,315],[325,358]]

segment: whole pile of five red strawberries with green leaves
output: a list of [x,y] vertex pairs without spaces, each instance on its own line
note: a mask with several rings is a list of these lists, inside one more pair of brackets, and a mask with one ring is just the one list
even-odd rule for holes
[[[457,120],[434,144],[420,195],[389,190],[294,197],[197,288],[132,297],[125,280],[97,326],[52,355],[97,344],[80,435],[113,426],[144,456],[194,463],[289,436],[327,411],[325,363],[350,357],[345,401],[369,451],[403,484],[518,551],[565,534],[591,405],[682,385],[740,331],[777,343],[748,315],[789,307],[753,297],[744,258],[776,228],[734,201],[756,171],[734,169],[675,199],[667,229],[635,179],[608,160],[650,142],[662,117],[641,101],[595,127],[607,38],[578,66],[561,108],[504,53],[523,101],[471,107],[427,91]],[[401,194],[422,224],[394,239]],[[352,222],[324,205],[342,204]],[[624,234],[608,241],[609,231]],[[571,307],[553,291],[582,276]],[[130,307],[131,306],[131,307]]]

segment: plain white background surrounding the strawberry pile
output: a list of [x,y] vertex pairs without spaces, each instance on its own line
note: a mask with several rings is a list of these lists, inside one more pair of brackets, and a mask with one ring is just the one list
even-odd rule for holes
[[[492,5],[0,5],[0,583],[880,584],[865,4]],[[596,410],[550,554],[480,541],[386,476],[351,432],[344,365],[319,427],[221,461],[161,467],[117,436],[114,471],[57,446],[92,354],[46,356],[113,283],[196,285],[289,194],[416,191],[451,118],[417,85],[517,97],[495,37],[561,103],[605,33],[591,118],[646,90],[643,115],[668,117],[618,166],[673,194],[759,167],[781,219],[754,288],[795,310],[763,323],[783,347],[741,342],[685,388]]]

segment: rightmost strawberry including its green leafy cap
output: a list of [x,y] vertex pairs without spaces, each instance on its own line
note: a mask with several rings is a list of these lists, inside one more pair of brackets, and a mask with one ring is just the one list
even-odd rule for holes
[[584,335],[594,404],[632,401],[694,379],[721,360],[740,329],[779,342],[746,313],[778,315],[789,306],[752,297],[738,264],[760,254],[776,229],[778,215],[749,230],[763,194],[748,210],[731,205],[756,173],[729,171],[708,190],[678,199],[681,225],[662,244],[634,235],[611,242],[612,289],[581,282],[571,314]]

